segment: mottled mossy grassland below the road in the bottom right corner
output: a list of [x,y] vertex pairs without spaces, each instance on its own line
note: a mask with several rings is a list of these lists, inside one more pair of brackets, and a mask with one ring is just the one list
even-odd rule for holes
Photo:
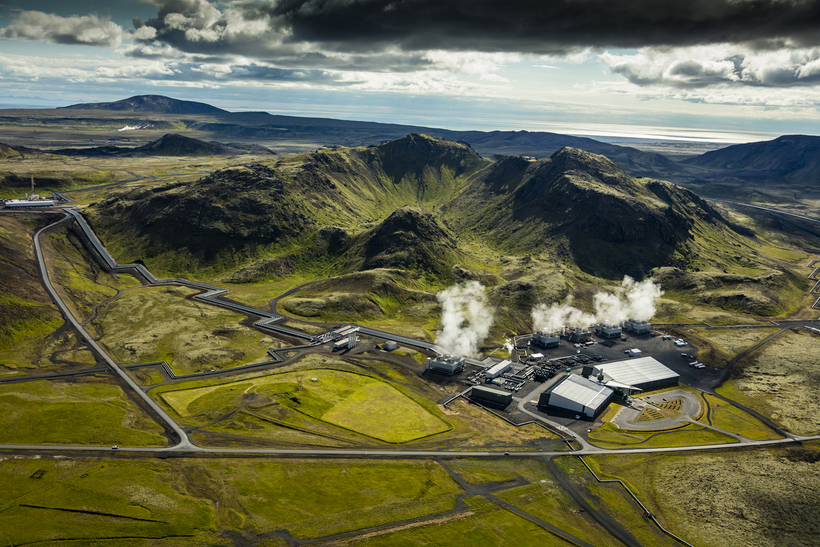
[[664,527],[697,547],[813,545],[820,532],[816,443],[586,461],[602,478],[624,480]]

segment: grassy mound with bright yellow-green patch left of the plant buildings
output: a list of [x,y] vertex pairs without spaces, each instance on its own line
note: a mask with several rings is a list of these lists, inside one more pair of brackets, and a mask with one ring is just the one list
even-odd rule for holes
[[[375,395],[361,399],[361,408],[351,404],[371,390]],[[375,360],[309,354],[272,372],[175,383],[150,393],[181,423],[201,428],[194,436],[205,445],[255,439],[283,446],[401,442],[471,450],[534,447],[556,438],[537,426],[516,428],[464,402],[444,409],[434,401],[446,391],[404,367]]]

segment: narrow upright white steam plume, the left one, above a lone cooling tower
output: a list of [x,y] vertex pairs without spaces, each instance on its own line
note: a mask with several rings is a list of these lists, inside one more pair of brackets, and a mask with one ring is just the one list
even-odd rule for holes
[[441,302],[441,330],[436,344],[451,355],[477,355],[478,344],[490,332],[492,309],[486,302],[484,285],[468,281],[437,295]]

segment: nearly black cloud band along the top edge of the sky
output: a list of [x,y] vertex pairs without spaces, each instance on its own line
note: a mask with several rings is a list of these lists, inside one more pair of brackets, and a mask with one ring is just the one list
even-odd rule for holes
[[820,43],[818,0],[281,0],[239,6],[291,40],[555,53],[583,47]]

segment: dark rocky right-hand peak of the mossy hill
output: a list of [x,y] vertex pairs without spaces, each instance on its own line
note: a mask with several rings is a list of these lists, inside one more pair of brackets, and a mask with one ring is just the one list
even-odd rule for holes
[[573,148],[536,162],[503,158],[471,181],[445,218],[504,252],[549,251],[605,277],[685,266],[699,223],[731,231],[694,193],[634,179],[607,158]]

